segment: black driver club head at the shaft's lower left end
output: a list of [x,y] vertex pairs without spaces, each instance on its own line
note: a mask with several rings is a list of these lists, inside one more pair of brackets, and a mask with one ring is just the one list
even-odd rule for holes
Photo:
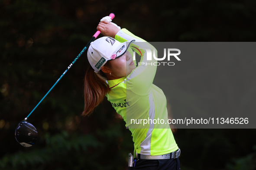
[[35,126],[26,120],[21,121],[15,130],[16,141],[24,147],[30,147],[35,144],[37,139],[37,130]]

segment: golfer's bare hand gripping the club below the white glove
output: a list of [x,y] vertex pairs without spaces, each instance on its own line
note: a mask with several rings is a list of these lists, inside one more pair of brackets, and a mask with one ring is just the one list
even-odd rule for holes
[[107,21],[100,22],[97,26],[97,30],[99,30],[102,35],[112,38],[115,38],[117,32],[119,31],[119,29],[115,25]]

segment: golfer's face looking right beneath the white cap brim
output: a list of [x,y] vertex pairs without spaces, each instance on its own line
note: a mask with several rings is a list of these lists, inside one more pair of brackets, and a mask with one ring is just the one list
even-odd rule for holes
[[112,75],[116,77],[125,77],[128,76],[136,66],[133,63],[133,58],[130,52],[126,51],[126,53],[115,59],[111,60],[112,67]]

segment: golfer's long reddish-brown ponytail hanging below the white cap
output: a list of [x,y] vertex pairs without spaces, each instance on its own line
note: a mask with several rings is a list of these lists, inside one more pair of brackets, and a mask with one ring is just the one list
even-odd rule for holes
[[[110,62],[104,66],[111,68]],[[107,76],[101,70],[96,73],[89,66],[84,77],[84,111],[83,116],[90,116],[94,108],[97,107],[104,99],[109,85],[107,84]]]

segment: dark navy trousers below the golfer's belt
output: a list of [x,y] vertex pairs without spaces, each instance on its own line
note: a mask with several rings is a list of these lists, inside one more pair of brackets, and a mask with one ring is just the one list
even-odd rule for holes
[[139,159],[135,167],[128,167],[127,170],[180,170],[180,161],[176,159]]

